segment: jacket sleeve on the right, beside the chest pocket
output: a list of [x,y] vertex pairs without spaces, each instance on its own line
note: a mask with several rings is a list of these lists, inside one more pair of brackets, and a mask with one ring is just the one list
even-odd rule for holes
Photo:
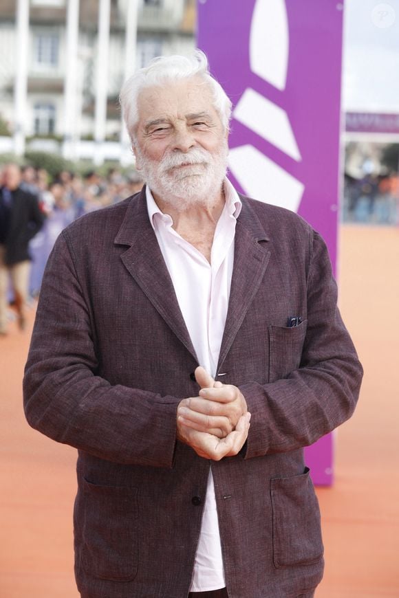
[[[300,365],[270,384],[240,386],[252,414],[245,458],[296,450],[348,419],[356,406],[363,368],[337,307],[327,247],[313,234],[308,274],[308,319]],[[283,336],[295,329],[283,329]],[[290,346],[277,361],[288,359]],[[272,355],[270,355],[272,359]]]

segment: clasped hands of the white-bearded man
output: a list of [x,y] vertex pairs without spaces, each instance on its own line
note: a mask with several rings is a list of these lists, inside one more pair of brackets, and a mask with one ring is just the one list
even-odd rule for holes
[[201,390],[198,397],[177,406],[177,440],[206,459],[219,461],[236,455],[250,427],[250,413],[237,386],[215,382],[201,366],[195,370]]

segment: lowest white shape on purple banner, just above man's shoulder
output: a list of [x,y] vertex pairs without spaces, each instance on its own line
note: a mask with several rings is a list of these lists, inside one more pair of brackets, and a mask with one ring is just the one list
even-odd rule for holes
[[250,197],[292,212],[299,210],[303,184],[254,146],[248,144],[230,150],[228,166]]

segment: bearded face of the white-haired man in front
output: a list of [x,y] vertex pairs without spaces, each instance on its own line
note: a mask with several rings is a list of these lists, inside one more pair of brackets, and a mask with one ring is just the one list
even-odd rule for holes
[[193,77],[144,89],[138,115],[136,167],[155,199],[179,210],[209,201],[226,174],[228,149],[208,85]]

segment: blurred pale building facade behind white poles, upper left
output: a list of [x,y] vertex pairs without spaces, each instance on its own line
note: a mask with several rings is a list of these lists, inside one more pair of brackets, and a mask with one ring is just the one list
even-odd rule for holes
[[12,136],[0,153],[123,162],[122,82],[154,56],[191,52],[194,23],[194,0],[1,0],[0,118]]

